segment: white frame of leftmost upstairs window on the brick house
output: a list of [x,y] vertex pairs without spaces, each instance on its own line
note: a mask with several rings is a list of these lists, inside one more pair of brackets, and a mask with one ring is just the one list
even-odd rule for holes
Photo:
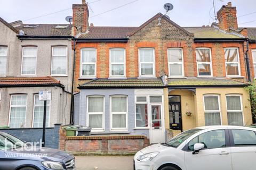
[[[83,62],[82,63],[82,57],[83,57],[83,50],[95,50],[95,62]],[[80,77],[81,78],[95,78],[97,73],[97,48],[82,48],[80,52]],[[83,65],[84,64],[94,64],[94,75],[83,75]]]

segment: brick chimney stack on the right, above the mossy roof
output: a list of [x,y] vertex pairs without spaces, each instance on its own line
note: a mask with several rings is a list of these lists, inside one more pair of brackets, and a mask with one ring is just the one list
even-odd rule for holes
[[223,5],[217,12],[217,18],[219,21],[219,28],[221,30],[230,31],[230,29],[237,30],[237,16],[236,7],[232,6],[229,2],[227,5]]

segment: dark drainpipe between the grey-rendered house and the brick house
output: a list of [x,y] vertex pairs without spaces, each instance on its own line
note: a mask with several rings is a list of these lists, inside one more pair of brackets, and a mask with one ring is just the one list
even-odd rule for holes
[[70,124],[74,124],[74,79],[75,79],[75,62],[76,62],[76,38],[72,37],[73,40],[73,50],[74,50],[74,60],[73,60],[73,76],[72,76],[72,88],[71,88],[71,107],[70,107]]

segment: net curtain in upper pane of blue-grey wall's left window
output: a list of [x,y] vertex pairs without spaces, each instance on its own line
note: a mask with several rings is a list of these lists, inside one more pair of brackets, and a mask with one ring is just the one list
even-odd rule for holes
[[103,97],[89,97],[88,107],[88,112],[103,112]]

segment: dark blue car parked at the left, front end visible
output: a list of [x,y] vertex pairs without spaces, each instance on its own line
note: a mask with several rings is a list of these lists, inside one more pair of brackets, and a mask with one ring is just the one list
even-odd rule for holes
[[0,132],[0,169],[4,170],[74,170],[75,157],[65,151],[27,145]]

